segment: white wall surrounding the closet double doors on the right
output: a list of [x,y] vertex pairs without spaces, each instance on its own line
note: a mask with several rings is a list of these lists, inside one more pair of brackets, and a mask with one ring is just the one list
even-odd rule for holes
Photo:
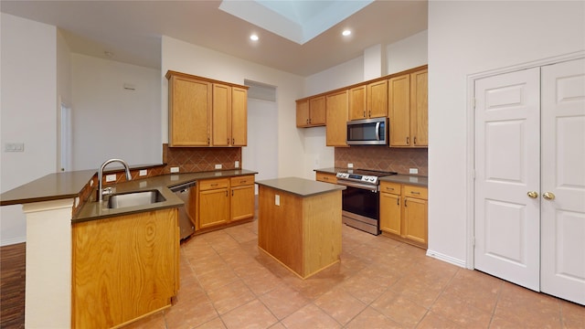
[[465,263],[467,77],[585,49],[585,2],[429,2],[429,250]]

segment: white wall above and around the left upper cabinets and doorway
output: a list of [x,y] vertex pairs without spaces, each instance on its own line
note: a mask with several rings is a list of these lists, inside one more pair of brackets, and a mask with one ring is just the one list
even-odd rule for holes
[[[166,71],[171,69],[214,80],[244,84],[244,80],[276,86],[278,122],[278,175],[304,176],[303,132],[297,130],[295,100],[301,98],[303,78],[277,69],[271,69],[240,58],[201,48],[172,37],[163,36],[162,52],[162,139],[168,142],[168,80]],[[247,167],[246,169],[254,170]]]

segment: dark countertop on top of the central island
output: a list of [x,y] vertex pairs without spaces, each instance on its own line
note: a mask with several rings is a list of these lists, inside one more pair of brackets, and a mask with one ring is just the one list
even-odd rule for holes
[[315,196],[323,193],[346,189],[346,186],[317,182],[311,179],[304,179],[299,177],[268,179],[256,182],[256,184],[259,186],[268,186],[302,197]]

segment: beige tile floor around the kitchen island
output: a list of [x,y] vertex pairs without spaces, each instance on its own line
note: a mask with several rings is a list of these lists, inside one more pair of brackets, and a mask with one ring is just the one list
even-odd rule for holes
[[341,262],[298,279],[257,221],[186,240],[170,309],[133,328],[585,328],[585,307],[343,228]]

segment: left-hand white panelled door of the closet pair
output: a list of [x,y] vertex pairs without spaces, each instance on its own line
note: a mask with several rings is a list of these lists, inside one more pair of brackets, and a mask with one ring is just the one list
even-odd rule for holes
[[[532,290],[540,273],[540,69],[475,82],[475,269]],[[534,195],[533,195],[534,196]]]

